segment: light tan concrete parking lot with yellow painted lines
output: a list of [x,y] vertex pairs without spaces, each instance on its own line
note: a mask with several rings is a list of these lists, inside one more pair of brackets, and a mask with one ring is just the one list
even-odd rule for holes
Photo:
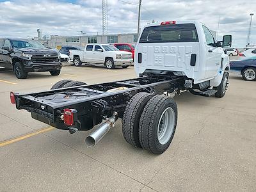
[[16,79],[0,70],[0,191],[256,191],[256,84],[230,74],[225,97],[177,95],[172,144],[159,156],[122,137],[121,121],[93,148],[10,104],[10,91],[47,90],[61,79],[88,84],[135,77],[133,67],[63,67],[60,76]]

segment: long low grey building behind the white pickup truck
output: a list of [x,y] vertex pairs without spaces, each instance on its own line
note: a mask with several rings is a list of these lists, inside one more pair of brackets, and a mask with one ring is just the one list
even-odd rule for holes
[[48,40],[40,40],[46,47],[56,47],[60,49],[64,45],[78,45],[84,47],[86,44],[115,44],[137,42],[137,33],[126,33],[116,35],[90,35],[90,36],[58,36],[51,35]]

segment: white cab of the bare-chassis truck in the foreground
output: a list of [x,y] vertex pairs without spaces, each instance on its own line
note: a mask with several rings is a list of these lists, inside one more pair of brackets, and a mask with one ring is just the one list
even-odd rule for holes
[[218,86],[230,68],[222,47],[230,47],[231,42],[231,35],[216,41],[209,28],[196,20],[148,24],[136,45],[134,68],[138,76],[172,72],[193,84]]

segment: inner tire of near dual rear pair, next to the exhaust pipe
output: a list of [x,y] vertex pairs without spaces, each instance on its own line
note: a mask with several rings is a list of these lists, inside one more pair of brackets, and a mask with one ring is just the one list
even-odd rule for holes
[[128,102],[122,118],[122,131],[125,141],[134,147],[141,147],[139,140],[139,124],[141,113],[154,95],[150,93],[137,93]]

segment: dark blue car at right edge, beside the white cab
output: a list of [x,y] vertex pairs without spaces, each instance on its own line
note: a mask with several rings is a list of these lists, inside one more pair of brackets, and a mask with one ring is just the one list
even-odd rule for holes
[[230,70],[241,74],[246,81],[256,81],[256,56],[242,61],[230,61]]

